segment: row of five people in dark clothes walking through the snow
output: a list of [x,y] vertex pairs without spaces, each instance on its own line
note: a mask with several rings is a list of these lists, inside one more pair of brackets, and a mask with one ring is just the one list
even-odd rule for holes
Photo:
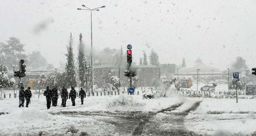
[[[52,102],[52,106],[56,107],[57,106],[57,102],[58,102],[58,89],[57,86],[54,86],[52,89],[49,89],[49,87],[46,87],[46,90],[44,91],[44,96],[46,96],[46,102],[47,102],[47,109],[49,109],[51,107],[51,102]],[[79,91],[79,97],[81,98],[81,105],[84,104],[84,97],[85,97],[85,91],[80,88]],[[69,96],[68,96],[68,92],[67,89],[65,88],[65,86],[62,86],[61,89],[61,106],[62,107],[66,107],[66,102],[67,99],[71,98],[72,101],[72,106],[75,106],[75,99],[76,99],[76,90],[74,89],[74,87],[71,87]]]

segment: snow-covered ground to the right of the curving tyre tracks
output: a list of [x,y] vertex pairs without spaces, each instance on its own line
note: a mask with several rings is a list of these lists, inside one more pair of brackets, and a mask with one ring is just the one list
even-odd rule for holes
[[255,99],[204,98],[185,118],[188,130],[208,135],[249,135],[256,131]]

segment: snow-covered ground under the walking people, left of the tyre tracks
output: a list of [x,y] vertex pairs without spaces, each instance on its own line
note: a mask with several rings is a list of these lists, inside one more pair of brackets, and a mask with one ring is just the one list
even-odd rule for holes
[[73,128],[79,132],[72,135],[83,132],[95,136],[118,135],[114,131],[115,126],[97,120],[99,117],[63,115],[61,112],[157,112],[183,101],[185,99],[179,97],[142,99],[142,95],[122,94],[86,97],[84,105],[77,97],[76,106],[72,106],[68,99],[67,107],[61,107],[59,98],[57,107],[46,110],[46,98],[43,95],[38,98],[37,94],[33,94],[29,108],[19,108],[18,98],[8,97],[0,100],[0,135],[71,135],[67,131]]

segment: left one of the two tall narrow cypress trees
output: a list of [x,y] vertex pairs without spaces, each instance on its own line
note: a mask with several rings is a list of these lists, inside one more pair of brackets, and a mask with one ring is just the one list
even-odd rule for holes
[[[68,87],[70,86],[76,86],[76,72],[75,72],[75,60],[74,60],[74,54],[73,54],[73,48],[72,48],[72,33],[70,33],[70,42],[69,47],[67,47],[67,63],[66,63],[66,85]],[[67,88],[68,88],[67,87]]]

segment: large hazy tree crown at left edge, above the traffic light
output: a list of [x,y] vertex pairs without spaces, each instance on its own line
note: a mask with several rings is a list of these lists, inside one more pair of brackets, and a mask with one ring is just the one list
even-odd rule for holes
[[[27,56],[23,54],[24,44],[15,37],[10,37],[6,43],[0,43],[0,58],[1,63],[11,68],[11,65],[19,64],[20,59],[25,59]],[[26,61],[26,60],[25,60]]]

